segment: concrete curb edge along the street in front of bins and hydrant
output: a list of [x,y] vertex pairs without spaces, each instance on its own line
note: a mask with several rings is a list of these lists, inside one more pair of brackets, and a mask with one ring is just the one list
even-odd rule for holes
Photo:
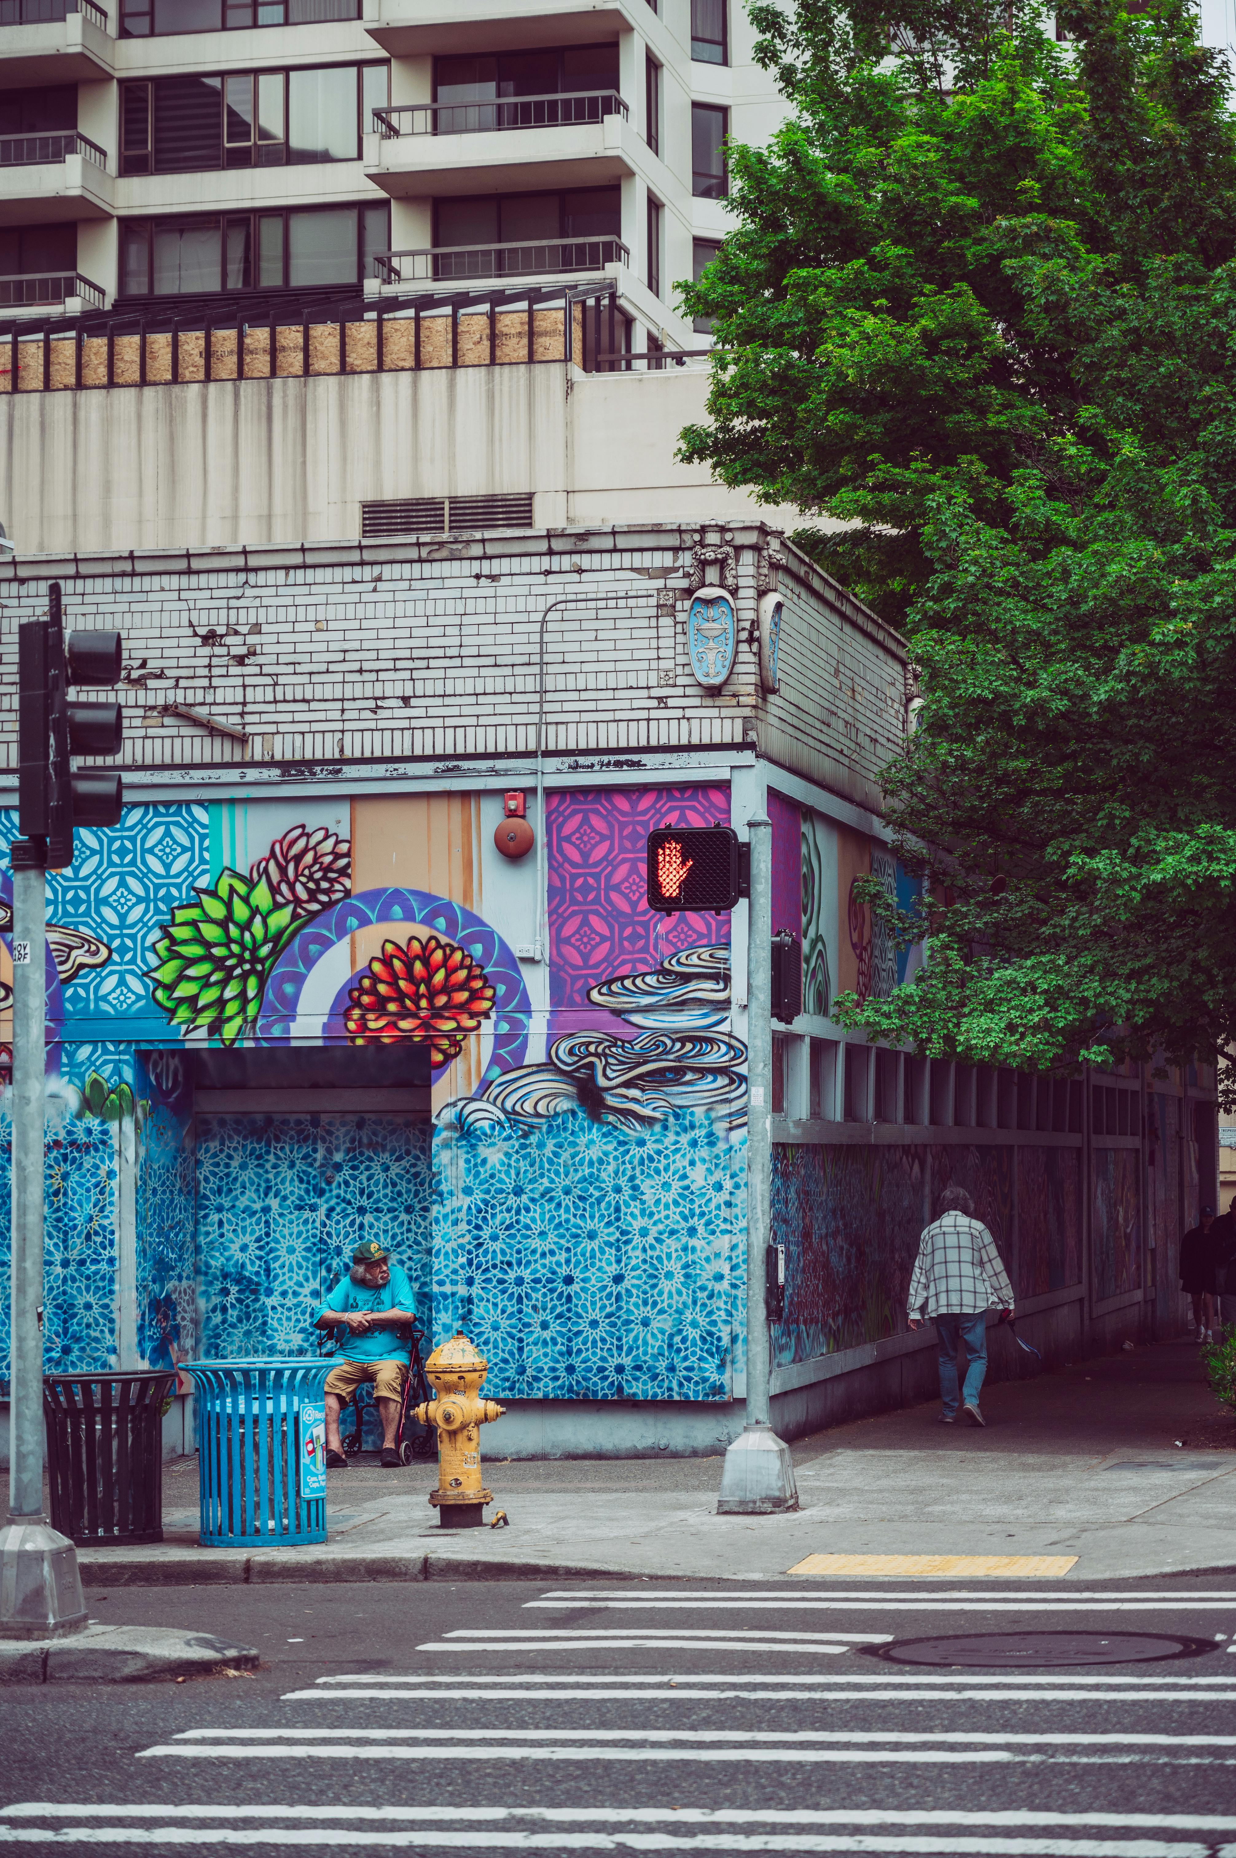
[[288,1581],[608,1581],[647,1579],[645,1570],[552,1561],[483,1561],[452,1555],[236,1555],[227,1561],[89,1561],[78,1557],[82,1587],[266,1587]]

